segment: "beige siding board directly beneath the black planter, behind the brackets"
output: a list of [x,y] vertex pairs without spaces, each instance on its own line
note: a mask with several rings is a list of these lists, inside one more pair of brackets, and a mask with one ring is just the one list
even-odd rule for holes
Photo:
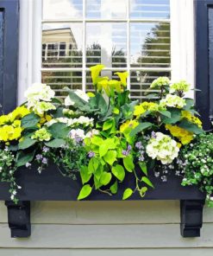
[[[32,202],[33,224],[160,224],[179,223],[178,201]],[[7,208],[0,202],[0,223]],[[204,222],[213,223],[213,208],[204,208]]]

